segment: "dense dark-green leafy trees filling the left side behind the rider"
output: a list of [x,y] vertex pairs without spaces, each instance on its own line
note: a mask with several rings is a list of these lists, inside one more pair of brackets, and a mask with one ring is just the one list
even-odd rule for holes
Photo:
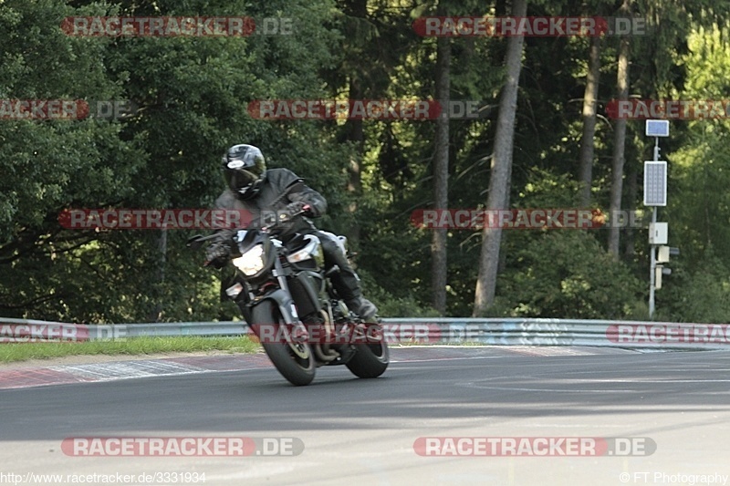
[[[6,98],[131,99],[128,121],[5,121],[0,124],[0,308],[80,322],[195,320],[217,315],[214,275],[187,250],[188,232],[88,233],[59,227],[64,208],[207,207],[220,191],[220,154],[259,145],[344,203],[338,187],[347,148],[317,122],[251,119],[261,98],[319,98],[318,69],[339,33],[322,25],[331,4],[185,2],[154,5],[7,2],[0,22]],[[218,4],[218,5],[216,5]],[[129,7],[132,8],[132,7]],[[66,36],[73,15],[241,15],[292,18],[297,36],[83,38]],[[52,169],[51,169],[52,168]]]

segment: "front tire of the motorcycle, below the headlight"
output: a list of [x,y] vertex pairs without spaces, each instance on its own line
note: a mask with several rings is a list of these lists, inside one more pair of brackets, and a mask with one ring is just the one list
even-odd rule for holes
[[[256,305],[251,317],[251,322],[257,326],[286,326],[278,307],[271,300]],[[273,335],[278,336],[278,333]],[[292,385],[301,387],[314,379],[317,367],[309,343],[265,343],[262,340],[261,346],[264,346],[266,356],[281,376],[287,378]]]

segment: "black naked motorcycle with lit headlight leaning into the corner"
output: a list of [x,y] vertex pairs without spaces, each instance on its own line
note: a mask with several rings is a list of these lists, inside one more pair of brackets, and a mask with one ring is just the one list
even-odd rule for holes
[[[225,294],[291,384],[308,385],[322,366],[345,365],[356,377],[380,377],[390,362],[381,323],[363,322],[339,298],[328,278],[339,268],[325,272],[316,235],[280,238],[307,210],[261,212],[258,221],[235,232],[227,242],[235,276]],[[188,246],[220,242],[221,234],[195,235]],[[338,241],[348,254],[345,238]]]

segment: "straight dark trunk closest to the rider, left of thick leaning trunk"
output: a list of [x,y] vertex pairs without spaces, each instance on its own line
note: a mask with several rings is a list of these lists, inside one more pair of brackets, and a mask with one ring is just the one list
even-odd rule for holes
[[[439,37],[436,47],[436,99],[443,107],[450,99],[451,42],[448,37]],[[445,210],[449,205],[449,118],[436,120],[436,143],[433,154],[433,207]],[[448,230],[433,230],[431,244],[431,284],[433,307],[441,314],[446,312],[447,284],[447,237]]]

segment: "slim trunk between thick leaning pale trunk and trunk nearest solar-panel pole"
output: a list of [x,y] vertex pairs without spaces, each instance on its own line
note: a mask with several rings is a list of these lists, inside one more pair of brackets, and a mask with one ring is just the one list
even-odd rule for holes
[[588,76],[583,95],[583,135],[580,139],[579,155],[580,204],[583,207],[590,204],[590,187],[593,182],[593,139],[596,135],[596,107],[599,98],[600,43],[600,36],[591,37]]

